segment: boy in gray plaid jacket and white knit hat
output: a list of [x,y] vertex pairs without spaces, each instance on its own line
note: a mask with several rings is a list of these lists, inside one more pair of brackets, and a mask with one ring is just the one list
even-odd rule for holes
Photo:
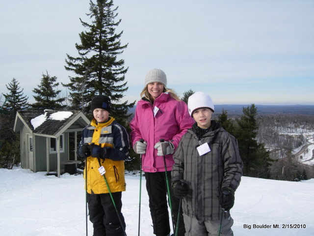
[[188,111],[196,122],[173,155],[171,173],[174,194],[183,201],[185,236],[210,236],[218,232],[221,236],[233,236],[230,209],[243,167],[237,140],[211,120],[214,106],[208,94],[191,95]]

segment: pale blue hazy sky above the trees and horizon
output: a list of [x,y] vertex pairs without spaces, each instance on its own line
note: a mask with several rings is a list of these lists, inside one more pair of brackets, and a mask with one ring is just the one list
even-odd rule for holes
[[[129,67],[122,101],[140,99],[145,74],[162,69],[179,96],[213,103],[314,105],[313,0],[113,0]],[[0,92],[15,78],[29,102],[42,74],[69,83],[66,54],[90,22],[89,0],[0,1]],[[61,87],[63,95],[67,91]],[[3,101],[0,95],[0,101]]]

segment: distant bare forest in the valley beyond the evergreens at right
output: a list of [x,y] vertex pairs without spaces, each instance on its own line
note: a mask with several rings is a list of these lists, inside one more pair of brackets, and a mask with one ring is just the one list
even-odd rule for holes
[[[258,111],[260,111],[259,106],[257,106],[257,108]],[[235,120],[241,115],[240,113],[230,114],[230,111],[225,108],[224,110],[227,111],[228,118],[232,120]],[[279,110],[280,109],[277,111]],[[308,112],[309,111],[300,111],[300,113]],[[212,118],[217,119],[219,115],[220,114],[215,111]],[[292,165],[294,165],[300,173],[306,174],[307,178],[314,178],[314,166],[297,161],[297,158],[292,154],[292,150],[308,144],[307,140],[313,138],[313,135],[309,136],[308,134],[314,133],[314,115],[282,112],[278,112],[277,114],[259,113],[256,120],[259,125],[257,141],[258,143],[263,143],[265,148],[270,151],[270,158],[277,161],[284,161],[291,158]],[[305,153],[309,151],[310,150],[306,148]],[[275,166],[276,165],[274,165],[273,168],[275,168]],[[278,173],[281,172],[283,172],[283,170],[278,170]]]

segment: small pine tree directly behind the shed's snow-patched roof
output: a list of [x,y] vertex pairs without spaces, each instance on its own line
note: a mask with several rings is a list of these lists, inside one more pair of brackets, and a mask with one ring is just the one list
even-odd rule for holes
[[65,97],[60,97],[61,90],[55,90],[55,87],[59,86],[59,83],[56,82],[57,77],[50,76],[47,71],[47,75],[42,75],[43,78],[40,80],[40,84],[37,89],[32,91],[37,95],[33,95],[35,98],[35,103],[31,104],[32,109],[36,110],[61,110],[66,107],[62,105],[62,102],[65,101]]

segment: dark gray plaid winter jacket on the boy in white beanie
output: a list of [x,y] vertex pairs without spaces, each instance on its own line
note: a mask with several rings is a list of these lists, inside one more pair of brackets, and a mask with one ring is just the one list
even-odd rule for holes
[[[172,181],[185,179],[188,194],[183,198],[183,213],[198,220],[219,220],[221,190],[238,187],[243,163],[237,140],[212,120],[209,131],[200,135],[195,123],[182,137],[173,155]],[[197,147],[208,143],[210,151],[202,156]],[[229,217],[227,212],[225,217]]]

